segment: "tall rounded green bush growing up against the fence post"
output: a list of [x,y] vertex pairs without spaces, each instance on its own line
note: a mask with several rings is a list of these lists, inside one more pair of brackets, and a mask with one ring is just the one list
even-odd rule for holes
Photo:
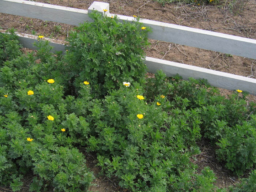
[[92,92],[102,97],[124,81],[143,83],[146,66],[144,48],[149,45],[148,27],[134,19],[120,23],[97,12],[90,14],[92,23],[84,23],[69,34],[63,69],[71,86],[80,82],[93,85]]

